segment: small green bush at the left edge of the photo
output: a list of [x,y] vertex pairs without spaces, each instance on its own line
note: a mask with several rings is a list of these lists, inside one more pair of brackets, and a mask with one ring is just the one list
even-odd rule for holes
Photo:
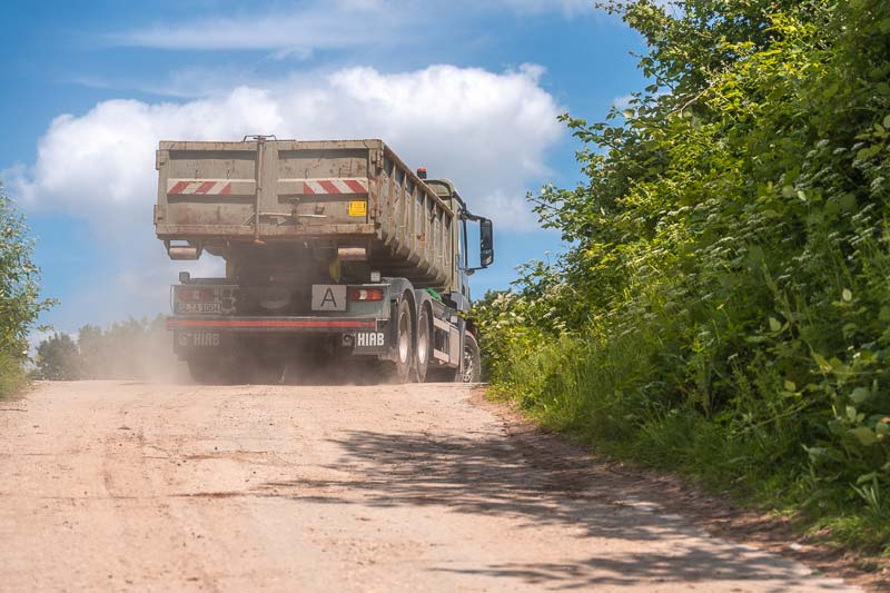
[[33,240],[0,184],[0,397],[24,384],[28,332],[41,310],[40,271],[31,260]]

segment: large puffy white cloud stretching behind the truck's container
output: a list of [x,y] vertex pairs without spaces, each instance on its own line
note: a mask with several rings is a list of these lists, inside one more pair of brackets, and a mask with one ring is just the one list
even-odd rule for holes
[[[166,261],[154,237],[159,140],[383,138],[409,165],[452,178],[472,208],[501,229],[531,229],[525,191],[547,175],[546,151],[562,135],[562,108],[541,88],[541,76],[535,66],[504,72],[348,68],[186,102],[107,100],[81,116],[57,117],[38,144],[36,162],[2,177],[28,210],[89,220],[116,259],[103,273],[108,285],[70,303],[81,309],[78,323],[128,306],[151,310],[148,303],[157,310],[174,268],[187,269]],[[156,289],[147,294],[149,286]]]

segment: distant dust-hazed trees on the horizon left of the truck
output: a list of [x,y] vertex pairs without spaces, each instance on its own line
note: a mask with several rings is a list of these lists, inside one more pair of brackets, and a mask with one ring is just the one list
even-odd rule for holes
[[171,378],[179,364],[166,317],[85,325],[77,339],[53,334],[37,347],[34,376],[49,380]]

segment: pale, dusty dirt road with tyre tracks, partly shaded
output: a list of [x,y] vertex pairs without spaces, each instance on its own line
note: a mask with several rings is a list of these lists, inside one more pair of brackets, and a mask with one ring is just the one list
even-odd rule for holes
[[0,589],[851,590],[564,480],[477,397],[40,385],[0,402]]

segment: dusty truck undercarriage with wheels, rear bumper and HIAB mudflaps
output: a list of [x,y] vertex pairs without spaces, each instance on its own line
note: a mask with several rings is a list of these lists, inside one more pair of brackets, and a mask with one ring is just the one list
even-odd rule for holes
[[[237,287],[225,279],[189,279],[174,287],[174,309],[221,310],[215,295]],[[220,283],[220,284],[217,284]],[[194,287],[211,298],[185,303]],[[324,293],[338,285],[316,285]],[[376,310],[350,312],[348,296],[384,294]],[[290,363],[344,365],[375,362],[382,378],[478,382],[473,328],[458,309],[404,278],[346,287],[343,312],[300,316],[186,314],[168,318],[174,348],[201,383],[277,383]],[[186,307],[185,305],[188,305]],[[200,305],[195,307],[194,305]],[[339,304],[337,304],[339,306]]]

